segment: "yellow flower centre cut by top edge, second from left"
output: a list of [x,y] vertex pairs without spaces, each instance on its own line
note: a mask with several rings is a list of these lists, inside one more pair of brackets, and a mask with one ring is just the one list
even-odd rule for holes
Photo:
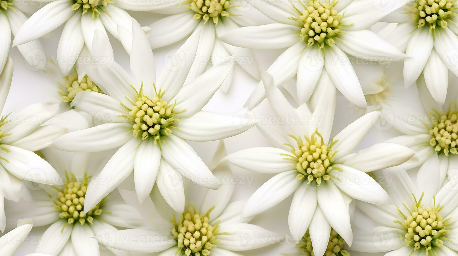
[[218,24],[219,16],[229,17],[226,10],[235,6],[229,5],[229,0],[190,0],[191,9],[195,11],[194,19],[198,20],[203,16],[207,23],[208,19],[213,18],[213,23]]

